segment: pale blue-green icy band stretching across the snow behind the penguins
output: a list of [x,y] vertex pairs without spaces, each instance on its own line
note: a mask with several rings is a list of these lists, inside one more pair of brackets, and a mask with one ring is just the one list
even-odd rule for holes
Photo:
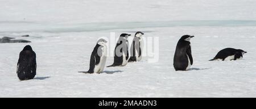
[[[0,21],[0,32],[93,32],[114,29],[160,28],[160,27],[256,27],[256,20],[170,20],[170,21],[130,21],[77,23],[72,22],[28,22]],[[18,30],[18,31],[17,31]]]

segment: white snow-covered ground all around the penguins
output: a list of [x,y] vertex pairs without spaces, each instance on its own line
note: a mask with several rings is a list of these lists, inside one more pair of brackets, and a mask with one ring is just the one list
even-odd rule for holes
[[[0,37],[32,43],[0,43],[0,97],[256,97],[256,1],[0,1]],[[239,8],[238,8],[239,7]],[[205,10],[206,8],[206,10]],[[139,10],[139,11],[138,11]],[[99,37],[142,31],[159,37],[159,61],[84,74]],[[31,37],[20,37],[30,34]],[[191,40],[189,71],[172,66],[176,43]],[[31,45],[34,80],[19,81],[19,52]],[[225,47],[243,60],[208,62]],[[113,52],[113,51],[109,51]],[[106,65],[113,63],[108,57]]]

